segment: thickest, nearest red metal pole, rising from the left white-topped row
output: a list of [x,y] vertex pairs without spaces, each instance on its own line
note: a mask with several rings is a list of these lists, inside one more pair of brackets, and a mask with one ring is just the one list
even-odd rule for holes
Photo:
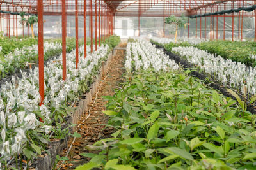
[[[44,23],[43,13],[44,6],[43,1],[37,1],[38,8],[38,73],[39,73],[39,94],[40,94],[40,106],[44,102]],[[42,120],[41,120],[42,121]]]

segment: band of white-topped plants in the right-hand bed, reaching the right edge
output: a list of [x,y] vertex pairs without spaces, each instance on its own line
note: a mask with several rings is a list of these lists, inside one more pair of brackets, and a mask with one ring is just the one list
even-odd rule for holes
[[189,63],[200,66],[206,73],[214,74],[224,85],[240,89],[246,85],[250,94],[255,94],[256,90],[256,69],[246,67],[240,62],[225,60],[221,56],[214,56],[204,50],[199,50],[193,46],[175,47],[172,52],[185,57]]

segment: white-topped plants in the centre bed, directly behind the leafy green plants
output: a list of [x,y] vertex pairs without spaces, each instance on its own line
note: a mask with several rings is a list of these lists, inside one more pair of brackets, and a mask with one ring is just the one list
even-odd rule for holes
[[156,71],[168,69],[179,69],[174,60],[170,60],[168,55],[158,50],[155,45],[149,41],[138,40],[136,43],[128,43],[125,68],[127,71],[132,69],[132,60],[134,60],[135,70],[148,69],[153,67]]

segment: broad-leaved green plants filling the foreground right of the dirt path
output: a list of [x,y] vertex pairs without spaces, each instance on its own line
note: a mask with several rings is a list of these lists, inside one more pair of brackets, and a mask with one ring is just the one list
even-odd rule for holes
[[86,146],[99,154],[77,170],[255,169],[256,116],[188,73],[127,75],[104,97],[113,138]]

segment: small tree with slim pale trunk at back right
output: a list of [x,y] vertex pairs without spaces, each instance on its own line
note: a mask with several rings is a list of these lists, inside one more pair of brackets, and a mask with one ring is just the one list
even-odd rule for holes
[[176,31],[175,31],[175,43],[177,41],[177,32],[178,29],[181,27],[185,27],[186,25],[189,25],[189,23],[186,23],[186,17],[182,15],[181,17],[175,17],[174,15],[171,15],[170,17],[166,17],[164,19],[165,24],[175,24],[176,25]]

